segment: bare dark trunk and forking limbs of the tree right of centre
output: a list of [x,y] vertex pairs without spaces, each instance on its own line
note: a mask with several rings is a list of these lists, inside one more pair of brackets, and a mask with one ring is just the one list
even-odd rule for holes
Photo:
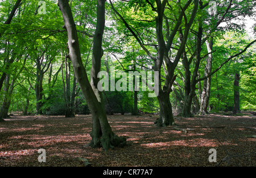
[[[161,68],[162,68],[163,61],[166,63],[166,66],[167,66],[166,82],[165,82],[165,85],[163,86],[163,89],[161,88],[162,85],[161,85],[160,78],[158,80],[159,81],[159,83],[158,83],[159,84],[158,101],[159,101],[159,106],[160,106],[160,118],[155,123],[159,126],[164,126],[164,125],[166,125],[166,123],[167,123],[167,125],[174,124],[174,119],[172,116],[170,116],[170,115],[172,115],[172,109],[171,109],[171,103],[170,103],[170,92],[171,92],[172,84],[174,83],[174,80],[172,80],[172,79],[174,78],[174,70],[175,70],[177,64],[179,63],[181,53],[184,50],[185,43],[187,41],[188,34],[189,34],[189,29],[192,26],[192,23],[195,19],[197,9],[198,9],[198,4],[199,4],[198,0],[193,1],[194,7],[193,7],[192,14],[191,14],[191,18],[189,19],[189,22],[185,26],[184,39],[181,41],[179,50],[175,56],[174,61],[171,61],[170,58],[168,57],[168,53],[170,52],[171,45],[173,43],[175,34],[179,30],[179,27],[182,23],[183,13],[188,8],[188,6],[192,2],[192,0],[187,1],[187,3],[184,5],[182,12],[180,12],[180,14],[179,14],[177,23],[174,25],[174,30],[172,30],[170,36],[167,35],[168,42],[166,44],[166,42],[163,38],[163,18],[165,16],[164,10],[166,9],[167,2],[168,1],[160,1],[160,0],[155,1],[156,8],[154,7],[154,11],[156,11],[156,13],[158,13],[158,16],[156,16],[156,18],[155,18],[156,39],[158,42],[158,53],[157,53],[157,57],[155,58],[151,55],[150,51],[148,51],[148,49],[146,47],[144,47],[143,43],[141,42],[141,39],[139,39],[139,37],[137,36],[137,33],[135,33],[131,29],[131,27],[126,22],[126,20],[121,16],[121,14],[119,14],[117,12],[117,10],[114,9],[113,3],[110,1],[111,5],[112,5],[112,9],[121,18],[121,20],[123,21],[123,23],[125,24],[127,29],[131,32],[131,34],[133,34],[135,39],[137,39],[138,43],[141,45],[141,47],[144,49],[144,51],[147,53],[147,55],[150,56],[150,58],[152,60],[154,60],[154,65],[155,65],[154,71],[159,72],[159,76],[161,76]],[[148,1],[148,3],[150,4],[151,7],[153,6],[149,1]],[[169,24],[168,24],[167,18],[166,18],[166,22],[167,22],[166,26],[168,28]],[[167,30],[166,34],[169,34],[168,30]],[[166,97],[166,98],[164,98],[164,97]]]

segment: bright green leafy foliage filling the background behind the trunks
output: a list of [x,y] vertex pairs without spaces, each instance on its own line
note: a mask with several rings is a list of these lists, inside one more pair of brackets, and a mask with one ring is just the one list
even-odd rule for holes
[[[4,73],[9,74],[11,78],[17,77],[13,94],[10,96],[11,106],[9,111],[24,111],[27,104],[26,100],[28,99],[30,101],[28,112],[34,114],[37,102],[34,90],[37,72],[35,63],[36,59],[46,51],[42,64],[48,64],[50,62],[49,59],[52,58],[51,63],[53,64],[53,68],[51,74],[49,71],[44,73],[43,99],[40,101],[43,102],[42,109],[45,114],[60,115],[65,113],[63,79],[65,80],[66,71],[63,69],[63,78],[61,72],[57,75],[57,71],[59,70],[61,61],[64,59],[66,53],[68,53],[67,32],[62,28],[63,17],[56,1],[44,0],[44,2],[46,2],[46,14],[38,14],[38,2],[37,0],[22,1],[10,24],[4,23],[10,15],[15,1],[0,2],[0,77]],[[88,71],[89,76],[92,61],[93,38],[86,36],[81,31],[93,35],[97,23],[97,1],[82,0],[69,2],[71,3],[76,28],[80,31],[78,32],[78,36],[81,57],[84,65],[86,65],[86,71]],[[201,2],[203,2],[204,5],[209,1],[203,0]],[[155,11],[156,1],[131,0],[114,1],[113,3],[117,11],[134,30],[135,34],[138,35],[142,44],[154,57],[157,57],[158,40],[156,38],[155,29],[157,16]],[[181,7],[183,7],[185,3],[187,3],[187,1],[168,1],[167,3],[163,20],[163,38],[166,42],[168,35],[170,35],[168,33],[174,29],[177,18],[179,17],[178,15],[180,11],[182,11]],[[234,0],[232,1],[229,12],[225,14],[225,10],[229,7],[229,1],[217,1],[218,14],[216,16],[210,16],[207,7],[205,7],[205,9],[199,9],[186,43],[188,57],[191,57],[192,53],[196,50],[195,43],[198,22],[201,22],[204,28],[203,36],[213,38],[213,49],[216,50],[216,52],[213,53],[212,69],[216,69],[229,56],[241,51],[245,45],[251,42],[251,39],[245,35],[243,26],[237,23],[231,23],[229,19],[240,19],[240,16],[254,15],[254,11],[252,10],[253,5],[255,5],[255,1]],[[183,32],[185,27],[185,18],[187,18],[187,20],[190,18],[192,9],[193,3],[183,14],[180,26],[181,32]],[[224,14],[225,16],[223,16]],[[216,24],[222,18],[224,18],[224,21],[226,20],[227,25],[225,27],[216,27]],[[166,19],[168,19],[168,23],[166,23]],[[168,31],[168,28],[170,31]],[[170,52],[171,60],[174,60],[180,45],[179,34],[175,35],[173,43],[173,48],[171,48]],[[108,1],[106,1],[106,27],[102,47],[104,49],[102,71],[108,71],[111,67],[115,67],[117,71],[126,72],[128,70],[146,72],[154,70],[154,61],[148,57],[147,53],[141,48],[119,17],[113,13]],[[202,57],[207,54],[208,51],[205,44],[203,44],[201,48]],[[47,57],[48,60],[46,60]],[[207,56],[200,61],[199,74],[201,77],[204,76],[206,58]],[[11,59],[14,59],[13,63],[8,64],[8,61]],[[24,63],[25,59],[26,63]],[[241,76],[241,109],[256,109],[255,59],[254,46],[247,49],[247,52],[243,53],[243,55],[225,64],[220,71],[212,76],[209,105],[213,106],[214,111],[232,110],[234,102],[233,81],[236,72],[240,73]],[[7,65],[9,65],[9,68],[7,68]],[[45,66],[47,67],[47,65]],[[46,67],[44,69],[46,69]],[[195,57],[193,57],[189,67],[192,76],[193,70],[195,69]],[[182,96],[182,94],[184,94],[184,68],[181,63],[177,64],[177,68],[174,73],[178,74],[175,81],[179,86],[174,86],[177,92],[179,92],[180,98],[177,98],[177,96],[172,93],[171,100],[176,104],[179,99],[179,102],[182,104],[184,100]],[[161,69],[162,84],[164,84],[165,81],[165,69],[166,66]],[[21,72],[18,73],[18,71]],[[51,81],[49,81],[50,75]],[[53,86],[54,76],[56,77],[56,84]],[[71,69],[71,81],[73,77],[74,74]],[[199,84],[197,84],[197,87],[199,87]],[[28,90],[28,88],[30,88],[30,90]],[[2,88],[0,90],[0,105],[2,105],[2,98],[5,94]],[[199,98],[198,91],[196,91],[196,94]],[[132,113],[134,108],[134,92],[106,91],[103,93],[103,96],[108,114]],[[76,96],[75,109],[76,113],[90,114],[90,110],[81,91],[79,91]],[[138,109],[144,113],[157,113],[159,111],[158,99],[156,97],[148,97],[148,91],[139,91]]]

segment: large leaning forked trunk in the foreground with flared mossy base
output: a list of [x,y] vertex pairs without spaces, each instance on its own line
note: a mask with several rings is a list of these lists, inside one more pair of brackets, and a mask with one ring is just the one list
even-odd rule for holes
[[93,39],[94,51],[91,71],[91,85],[84,65],[82,65],[76,26],[68,0],[59,0],[58,6],[60,7],[64,19],[63,28],[65,28],[68,32],[68,57],[70,57],[72,60],[75,76],[92,113],[92,132],[90,133],[92,140],[87,146],[102,146],[105,151],[115,146],[124,146],[126,144],[126,138],[123,136],[118,137],[113,133],[106,117],[101,92],[96,88],[96,81],[98,81],[97,74],[100,71],[100,60],[101,56],[103,55],[101,45],[103,30],[105,27],[105,0],[98,0],[97,3],[97,26]]

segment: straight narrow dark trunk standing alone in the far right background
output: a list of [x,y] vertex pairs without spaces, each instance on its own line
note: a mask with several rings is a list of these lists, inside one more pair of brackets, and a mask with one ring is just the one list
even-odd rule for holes
[[234,78],[234,109],[233,114],[241,113],[240,111],[240,92],[239,92],[240,74],[236,73]]

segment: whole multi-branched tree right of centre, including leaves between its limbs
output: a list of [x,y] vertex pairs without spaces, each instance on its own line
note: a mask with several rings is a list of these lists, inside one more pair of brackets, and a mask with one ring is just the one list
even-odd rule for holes
[[[138,34],[137,30],[133,30],[134,27],[131,27],[130,24],[127,22],[127,20],[115,9],[112,1],[110,1],[110,4],[112,6],[113,11],[115,14],[119,16],[121,19],[121,22],[125,24],[125,27],[127,30],[130,31],[130,33],[134,36],[135,39],[137,39],[137,42],[139,45],[141,45],[141,48],[147,53],[147,55],[151,58],[152,61],[154,61],[154,71],[159,73],[158,80],[155,80],[155,82],[158,82],[158,101],[160,106],[160,118],[156,122],[156,125],[162,127],[162,126],[168,126],[173,125],[175,123],[173,115],[172,115],[172,106],[170,102],[170,92],[172,88],[172,84],[175,81],[176,75],[175,75],[175,68],[179,62],[180,56],[183,52],[183,49],[185,47],[185,43],[188,38],[189,29],[192,26],[193,20],[195,19],[197,9],[198,9],[198,1],[193,1],[193,9],[191,9],[192,13],[190,17],[188,18],[188,15],[185,14],[186,10],[188,9],[189,5],[191,4],[191,1],[187,1],[186,3],[180,3],[179,9],[175,11],[175,13],[178,14],[172,14],[174,15],[175,24],[174,21],[171,21],[167,16],[170,15],[170,11],[167,11],[170,7],[172,9],[170,2],[168,1],[160,1],[156,0],[155,2],[152,1],[146,1],[146,2],[139,2],[139,1],[131,1],[130,6],[136,5],[137,9],[144,9],[144,12],[151,9],[154,12],[155,19],[152,19],[152,16],[149,18],[152,20],[144,20],[145,22],[148,22],[146,27],[152,28],[152,22],[154,22],[155,25],[155,39],[158,44],[152,45],[155,48],[155,55],[152,55],[150,50],[146,48],[146,45],[144,44],[143,40],[141,39],[141,36]],[[183,7],[181,7],[183,5]],[[123,6],[123,3],[122,3]],[[143,10],[141,10],[143,12]],[[166,13],[165,13],[166,12]],[[142,13],[143,14],[143,13]],[[146,14],[146,13],[145,13]],[[184,25],[184,35],[183,39],[180,42],[179,49],[177,49],[176,54],[172,53],[170,51],[172,44],[174,43],[175,35],[180,30],[180,26],[182,23],[182,19],[184,16],[185,25]],[[139,20],[139,19],[136,19]],[[173,26],[173,29],[170,28],[170,25]],[[165,28],[164,28],[165,27]],[[166,30],[166,35],[164,36],[164,30]],[[165,42],[166,40],[166,42]],[[174,55],[174,59],[170,59],[170,53]],[[156,57],[155,57],[156,56]],[[164,85],[162,85],[161,80],[161,70],[162,65],[166,66],[165,71],[165,82]],[[156,92],[156,91],[155,91]]]

